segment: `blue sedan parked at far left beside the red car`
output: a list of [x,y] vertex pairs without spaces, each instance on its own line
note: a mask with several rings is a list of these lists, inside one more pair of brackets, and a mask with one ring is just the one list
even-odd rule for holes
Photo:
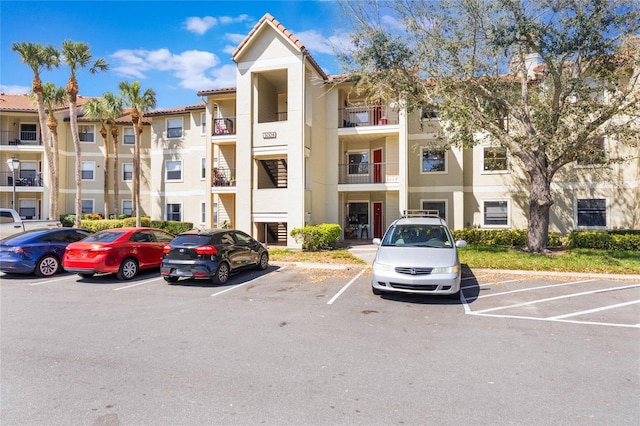
[[50,277],[62,270],[67,245],[91,232],[80,228],[34,229],[0,240],[0,271]]

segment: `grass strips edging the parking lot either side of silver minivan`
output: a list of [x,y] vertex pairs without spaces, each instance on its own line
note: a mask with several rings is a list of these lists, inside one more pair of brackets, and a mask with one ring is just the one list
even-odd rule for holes
[[[270,250],[274,262],[316,262],[364,265],[346,249],[319,252]],[[549,254],[530,254],[509,247],[468,245],[458,249],[460,262],[471,269],[588,272],[640,275],[639,251],[571,249]]]

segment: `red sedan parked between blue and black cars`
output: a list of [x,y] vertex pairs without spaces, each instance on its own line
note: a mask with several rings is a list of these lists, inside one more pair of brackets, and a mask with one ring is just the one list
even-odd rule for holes
[[155,228],[107,229],[69,244],[62,267],[83,278],[114,273],[121,280],[130,280],[139,270],[159,267],[162,250],[174,238]]

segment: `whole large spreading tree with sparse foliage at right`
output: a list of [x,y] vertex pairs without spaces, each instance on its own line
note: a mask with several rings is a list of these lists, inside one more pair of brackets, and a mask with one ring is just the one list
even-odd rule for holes
[[548,243],[556,173],[579,159],[619,161],[601,155],[605,136],[638,143],[635,0],[343,5],[355,30],[342,62],[357,89],[409,111],[437,104],[447,143],[489,137],[519,159],[529,180],[531,252]]

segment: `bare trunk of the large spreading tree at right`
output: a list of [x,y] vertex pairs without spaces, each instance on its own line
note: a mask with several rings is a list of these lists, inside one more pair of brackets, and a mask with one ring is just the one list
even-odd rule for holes
[[529,192],[529,227],[527,250],[542,253],[549,242],[549,210],[551,198],[551,177],[539,169],[530,171],[531,190]]

